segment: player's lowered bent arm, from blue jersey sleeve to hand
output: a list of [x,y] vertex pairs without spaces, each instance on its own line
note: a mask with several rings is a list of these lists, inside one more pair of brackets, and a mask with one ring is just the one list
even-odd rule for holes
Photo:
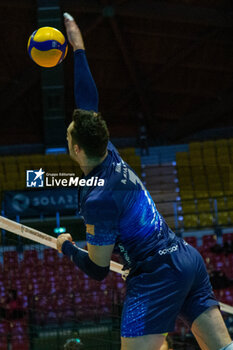
[[119,210],[111,192],[104,191],[99,198],[86,201],[86,237],[88,253],[72,244],[70,235],[57,239],[57,249],[87,275],[101,281],[110,267],[110,260],[117,237]]

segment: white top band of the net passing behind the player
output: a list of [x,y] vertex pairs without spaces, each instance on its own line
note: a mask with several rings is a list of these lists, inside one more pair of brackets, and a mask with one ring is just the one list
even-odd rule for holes
[[[52,237],[34,228],[22,225],[13,220],[7,219],[3,216],[0,216],[0,228],[57,250],[57,239],[55,237]],[[87,253],[87,250],[81,248],[79,249]],[[125,279],[129,273],[128,270],[123,270],[123,265],[112,260],[110,262],[110,270],[121,274],[123,279]],[[233,306],[221,302],[219,304],[221,311],[233,314]]]

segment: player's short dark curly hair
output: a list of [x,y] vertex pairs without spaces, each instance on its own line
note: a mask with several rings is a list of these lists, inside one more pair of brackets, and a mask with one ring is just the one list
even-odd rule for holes
[[101,114],[75,109],[73,121],[70,132],[73,144],[83,149],[89,158],[103,157],[107,149],[109,131]]

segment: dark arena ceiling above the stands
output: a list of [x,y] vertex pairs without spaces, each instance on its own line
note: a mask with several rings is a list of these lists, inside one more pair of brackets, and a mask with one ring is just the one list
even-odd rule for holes
[[[233,126],[231,0],[61,0],[84,34],[100,110],[113,137],[181,142]],[[41,71],[26,53],[37,3],[2,0],[0,144],[43,141]],[[63,63],[67,122],[74,108],[72,50]]]

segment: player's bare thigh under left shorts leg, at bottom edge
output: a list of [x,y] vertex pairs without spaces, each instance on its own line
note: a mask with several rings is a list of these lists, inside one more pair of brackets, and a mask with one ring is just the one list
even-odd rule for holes
[[163,334],[148,334],[134,338],[121,338],[121,350],[159,350],[164,342]]

